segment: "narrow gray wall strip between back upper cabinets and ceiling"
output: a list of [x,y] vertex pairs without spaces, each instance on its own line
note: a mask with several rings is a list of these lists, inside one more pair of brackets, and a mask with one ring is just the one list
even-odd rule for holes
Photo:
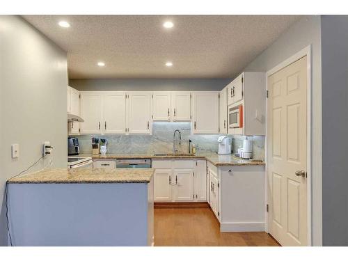
[[232,79],[70,79],[77,90],[222,90]]

